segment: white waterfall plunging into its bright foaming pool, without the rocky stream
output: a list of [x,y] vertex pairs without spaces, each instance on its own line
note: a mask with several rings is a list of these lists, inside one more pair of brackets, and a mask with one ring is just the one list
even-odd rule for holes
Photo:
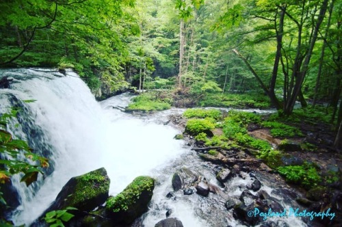
[[[18,69],[1,70],[1,76],[14,79],[10,89],[0,90],[1,112],[14,105],[15,99],[27,115],[21,123],[31,128],[28,131],[21,126],[12,133],[31,140],[29,144],[38,154],[51,153],[53,168],[47,178],[40,177],[29,187],[20,183],[18,176],[13,179],[21,197],[13,215],[16,225],[33,222],[73,176],[104,167],[111,179],[109,193],[115,195],[136,176],[151,174],[185,151],[182,142],[173,139],[176,129],[133,118],[113,111],[111,104],[96,102],[75,72],[64,76],[51,70]],[[22,102],[32,99],[36,101]],[[39,136],[30,135],[33,131]]]

